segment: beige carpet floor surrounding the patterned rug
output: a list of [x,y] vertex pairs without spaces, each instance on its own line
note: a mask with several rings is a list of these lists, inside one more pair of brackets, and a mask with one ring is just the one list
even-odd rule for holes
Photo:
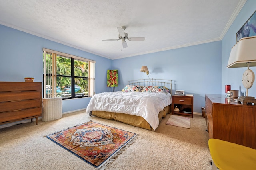
[[1,170],[96,170],[44,135],[92,120],[138,134],[138,139],[110,165],[108,170],[210,170],[210,152],[205,119],[194,114],[190,129],[166,125],[156,131],[117,121],[90,117],[85,111],[61,119],[24,123],[0,129]]

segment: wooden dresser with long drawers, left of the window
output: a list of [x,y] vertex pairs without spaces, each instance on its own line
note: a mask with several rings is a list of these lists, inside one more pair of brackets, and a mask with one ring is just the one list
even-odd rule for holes
[[0,82],[0,125],[42,114],[41,82]]

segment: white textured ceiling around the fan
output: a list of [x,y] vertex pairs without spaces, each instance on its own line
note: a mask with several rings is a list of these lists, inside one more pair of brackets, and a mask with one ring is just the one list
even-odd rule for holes
[[[0,0],[0,24],[109,59],[221,40],[246,0]],[[121,51],[117,27],[129,37]],[[234,35],[235,36],[235,35]],[[54,50],[54,49],[53,49]]]

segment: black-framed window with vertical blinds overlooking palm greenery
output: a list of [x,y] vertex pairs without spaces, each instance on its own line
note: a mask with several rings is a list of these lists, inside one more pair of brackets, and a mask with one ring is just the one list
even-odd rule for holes
[[44,98],[82,98],[94,94],[95,61],[50,49],[44,51]]

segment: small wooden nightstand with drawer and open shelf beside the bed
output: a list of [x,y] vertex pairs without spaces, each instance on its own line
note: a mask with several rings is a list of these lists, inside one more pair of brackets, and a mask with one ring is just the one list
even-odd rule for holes
[[187,115],[193,118],[193,96],[172,95],[172,108],[172,115]]

